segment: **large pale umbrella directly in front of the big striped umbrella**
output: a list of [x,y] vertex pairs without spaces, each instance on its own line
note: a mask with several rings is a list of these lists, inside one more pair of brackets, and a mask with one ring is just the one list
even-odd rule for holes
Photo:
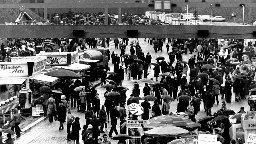
[[167,124],[164,126],[159,126],[154,129],[145,131],[145,134],[151,137],[166,137],[166,138],[178,137],[181,135],[186,135],[188,133],[189,133],[188,130],[185,130],[176,126],[167,125]]

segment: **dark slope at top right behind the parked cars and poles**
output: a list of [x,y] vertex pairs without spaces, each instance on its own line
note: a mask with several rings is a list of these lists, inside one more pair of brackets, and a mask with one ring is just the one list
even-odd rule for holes
[[[234,18],[231,16],[231,13],[235,12],[237,16],[235,17],[235,22],[243,23],[243,7],[241,8],[225,8],[225,7],[212,7],[210,11],[209,8],[189,8],[189,13],[194,13],[195,9],[197,10],[198,15],[210,15],[212,11],[212,16],[222,16],[226,18],[226,22],[234,22]],[[252,14],[255,14],[256,9],[252,9]],[[187,13],[187,11],[183,11],[182,13]],[[256,15],[254,15],[254,20]],[[251,15],[249,14],[249,8],[245,8],[245,23],[249,23],[251,19]]]

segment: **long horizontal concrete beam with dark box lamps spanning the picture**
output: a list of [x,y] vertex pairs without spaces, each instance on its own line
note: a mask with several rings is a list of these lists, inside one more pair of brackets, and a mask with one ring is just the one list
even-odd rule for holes
[[[65,30],[65,31],[63,31]],[[127,30],[138,30],[130,38],[243,38],[255,39],[255,26],[186,26],[186,25],[0,25],[1,38],[78,38],[73,30],[85,30],[79,38],[126,38]],[[198,30],[209,36],[198,37]],[[104,35],[102,34],[104,33]]]

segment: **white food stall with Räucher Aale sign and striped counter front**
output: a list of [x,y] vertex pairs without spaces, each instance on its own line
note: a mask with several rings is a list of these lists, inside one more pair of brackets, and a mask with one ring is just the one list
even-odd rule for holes
[[[46,57],[11,57],[11,62],[0,65],[0,114],[18,106],[18,92],[22,88],[30,89],[29,78],[45,69]],[[7,101],[15,98],[13,101]],[[25,109],[31,107],[31,93],[26,94]]]

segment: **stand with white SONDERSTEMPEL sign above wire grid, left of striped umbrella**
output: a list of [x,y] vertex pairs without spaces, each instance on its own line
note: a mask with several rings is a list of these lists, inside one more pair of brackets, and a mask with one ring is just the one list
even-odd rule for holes
[[141,144],[141,136],[144,134],[144,130],[141,126],[146,121],[126,121],[126,134],[132,137],[127,140],[127,144]]

